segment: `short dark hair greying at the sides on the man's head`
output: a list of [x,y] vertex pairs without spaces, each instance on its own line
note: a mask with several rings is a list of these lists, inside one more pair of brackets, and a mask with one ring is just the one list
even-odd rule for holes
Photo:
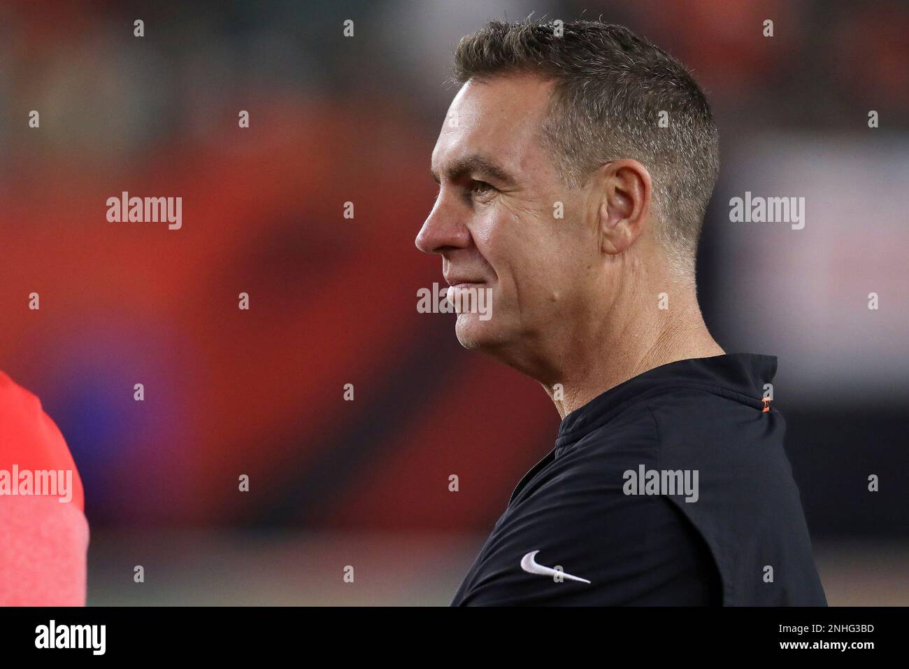
[[[458,84],[511,73],[554,80],[543,138],[568,188],[619,158],[647,168],[657,239],[675,268],[693,272],[719,173],[719,133],[684,65],[622,25],[588,20],[491,21],[454,50]],[[667,127],[658,125],[661,112]]]

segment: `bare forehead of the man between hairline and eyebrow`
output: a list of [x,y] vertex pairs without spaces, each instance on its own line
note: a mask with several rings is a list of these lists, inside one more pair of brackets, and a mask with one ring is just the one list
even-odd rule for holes
[[436,175],[464,157],[480,155],[514,177],[547,160],[540,142],[552,82],[534,75],[471,79],[454,96],[432,157]]

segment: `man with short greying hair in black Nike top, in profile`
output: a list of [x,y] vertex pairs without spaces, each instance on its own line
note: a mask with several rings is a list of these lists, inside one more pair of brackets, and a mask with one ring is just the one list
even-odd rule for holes
[[453,604],[825,605],[776,359],[725,354],[697,304],[719,160],[694,79],[594,21],[492,22],[454,71],[416,246],[467,305],[461,344],[563,421]]

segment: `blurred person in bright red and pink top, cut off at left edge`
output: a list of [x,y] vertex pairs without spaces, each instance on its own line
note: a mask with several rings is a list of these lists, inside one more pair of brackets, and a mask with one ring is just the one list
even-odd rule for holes
[[41,401],[0,371],[0,606],[84,606],[82,481]]

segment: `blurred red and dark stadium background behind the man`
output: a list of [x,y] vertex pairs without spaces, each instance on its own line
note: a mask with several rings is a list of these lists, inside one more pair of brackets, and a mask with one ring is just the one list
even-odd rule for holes
[[[442,278],[414,238],[454,44],[531,12],[694,70],[723,146],[704,317],[779,358],[829,602],[909,604],[905,3],[5,2],[0,369],[73,451],[88,603],[450,601],[559,420],[417,313]],[[183,228],[107,222],[122,191],[184,198]],[[745,191],[804,197],[805,228],[731,223]]]

